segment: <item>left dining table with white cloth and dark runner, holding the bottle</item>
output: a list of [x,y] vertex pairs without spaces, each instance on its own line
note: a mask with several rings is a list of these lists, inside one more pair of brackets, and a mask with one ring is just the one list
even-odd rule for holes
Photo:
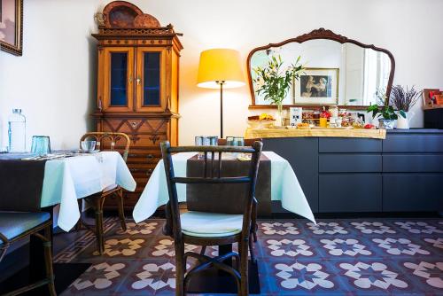
[[[8,175],[7,170],[0,169],[0,177],[7,175],[9,182],[14,184],[32,183],[33,175],[29,172],[35,168],[39,160],[43,164],[43,181],[41,182],[40,207],[37,210],[51,214],[54,226],[69,231],[79,221],[81,213],[78,200],[103,191],[107,186],[117,184],[127,191],[136,190],[136,181],[119,152],[52,152],[49,155],[35,155],[30,153],[3,153],[0,154],[0,166],[10,164],[13,161],[24,167],[23,174]],[[19,162],[17,162],[19,161]],[[44,163],[43,163],[44,161]],[[31,166],[32,164],[32,166]],[[1,167],[0,167],[1,168]],[[17,178],[17,180],[14,180]],[[1,183],[1,180],[0,180]],[[8,184],[2,183],[3,188]],[[1,199],[5,199],[0,195]],[[26,196],[18,196],[15,199],[27,201]],[[54,207],[59,206],[58,213],[54,213]],[[8,209],[10,210],[10,209]],[[1,214],[1,213],[0,213]],[[51,233],[52,237],[52,233]],[[39,277],[44,272],[43,245],[38,239],[31,237],[29,243],[29,269],[30,275]],[[74,263],[56,263],[54,270],[56,274],[56,288],[58,287],[57,274],[63,273],[63,282],[69,277],[70,266]],[[61,266],[63,265],[63,266]],[[77,275],[78,276],[78,275]],[[75,276],[75,277],[77,277]],[[74,277],[74,276],[73,276]],[[74,281],[74,278],[72,280]],[[64,283],[65,284],[65,283]],[[70,283],[66,283],[70,284]],[[44,292],[43,292],[44,293]]]

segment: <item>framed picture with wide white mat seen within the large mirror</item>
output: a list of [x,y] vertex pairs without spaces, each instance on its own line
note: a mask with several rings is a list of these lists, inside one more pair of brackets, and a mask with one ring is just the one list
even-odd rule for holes
[[306,68],[293,85],[296,105],[338,104],[338,68]]

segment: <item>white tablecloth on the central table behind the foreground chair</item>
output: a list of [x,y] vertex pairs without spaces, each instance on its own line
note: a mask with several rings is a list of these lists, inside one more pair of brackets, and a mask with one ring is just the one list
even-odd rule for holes
[[[284,209],[315,222],[305,193],[288,160],[284,160],[275,152],[262,153],[271,161],[271,200],[281,200]],[[183,152],[172,156],[175,176],[186,176],[186,162],[195,154]],[[176,186],[179,201],[186,201],[186,184],[177,183]],[[159,206],[166,205],[168,200],[165,167],[163,160],[160,160],[134,207],[134,220],[144,221],[154,214]]]

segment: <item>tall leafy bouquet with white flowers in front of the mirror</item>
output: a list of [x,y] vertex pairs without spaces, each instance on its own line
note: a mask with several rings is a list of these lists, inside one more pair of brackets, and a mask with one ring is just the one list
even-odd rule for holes
[[300,57],[294,64],[284,68],[282,57],[277,55],[269,58],[267,66],[253,68],[253,83],[257,87],[257,94],[262,94],[265,100],[277,105],[280,115],[289,87],[295,80],[299,80],[300,74],[305,70],[305,67],[299,64],[299,60]]

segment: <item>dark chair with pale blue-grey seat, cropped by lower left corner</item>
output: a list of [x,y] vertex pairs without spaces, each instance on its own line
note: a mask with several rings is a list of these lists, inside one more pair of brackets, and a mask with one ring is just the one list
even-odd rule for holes
[[[45,278],[12,292],[7,292],[4,296],[18,295],[45,284],[48,285],[51,296],[57,295],[52,269],[51,227],[52,221],[49,213],[0,212],[0,261],[2,261],[9,245],[13,242],[28,236],[35,236],[43,241],[46,268]],[[41,230],[44,231],[44,235],[39,233]]]

